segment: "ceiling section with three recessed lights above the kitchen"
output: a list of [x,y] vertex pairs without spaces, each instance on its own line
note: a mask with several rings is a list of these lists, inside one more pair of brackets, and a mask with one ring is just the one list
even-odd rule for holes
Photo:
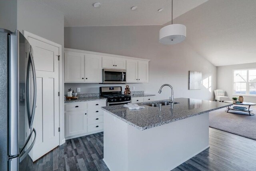
[[[163,25],[171,20],[171,0],[36,0],[64,14],[64,26]],[[174,0],[176,18],[208,0]],[[93,3],[100,2],[99,8]],[[132,11],[132,6],[138,8]],[[158,12],[159,8],[164,8]]]

